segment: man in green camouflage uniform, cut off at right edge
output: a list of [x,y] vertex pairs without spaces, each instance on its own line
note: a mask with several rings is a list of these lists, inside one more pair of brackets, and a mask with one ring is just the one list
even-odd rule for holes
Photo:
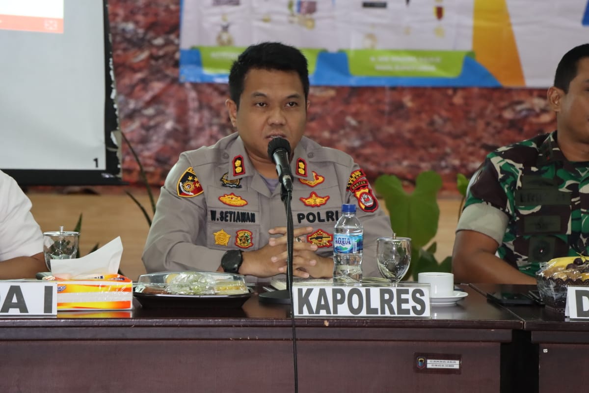
[[535,283],[540,262],[589,247],[589,44],[562,57],[548,103],[557,131],[489,154],[456,229],[459,282]]

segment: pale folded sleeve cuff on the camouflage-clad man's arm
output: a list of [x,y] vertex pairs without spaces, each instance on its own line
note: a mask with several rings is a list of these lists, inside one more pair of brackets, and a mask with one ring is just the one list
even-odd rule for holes
[[507,229],[507,220],[507,214],[496,207],[486,203],[475,203],[465,207],[458,220],[456,232],[474,230],[491,237],[501,245]]

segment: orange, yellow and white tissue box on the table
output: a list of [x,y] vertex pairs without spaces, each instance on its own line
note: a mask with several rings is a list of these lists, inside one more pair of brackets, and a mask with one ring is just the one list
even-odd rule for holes
[[[54,278],[55,279],[55,278]],[[57,310],[130,310],[133,282],[121,275],[57,281]]]

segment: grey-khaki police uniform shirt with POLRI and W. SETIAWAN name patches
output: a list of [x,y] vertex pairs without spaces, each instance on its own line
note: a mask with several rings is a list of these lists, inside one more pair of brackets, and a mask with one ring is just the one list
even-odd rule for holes
[[[379,276],[376,238],[392,236],[391,223],[358,164],[342,151],[303,137],[290,166],[294,227],[312,226],[305,240],[319,247],[318,255],[331,256],[342,203],[355,203],[364,227],[363,275]],[[143,253],[145,268],[215,271],[229,249],[262,248],[269,229],[286,226],[280,189],[268,189],[237,133],[180,154],[157,202]]]

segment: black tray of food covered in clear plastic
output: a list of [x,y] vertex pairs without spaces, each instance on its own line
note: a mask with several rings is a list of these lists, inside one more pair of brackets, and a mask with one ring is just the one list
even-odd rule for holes
[[244,276],[219,272],[149,273],[133,285],[145,308],[239,308],[252,293]]

